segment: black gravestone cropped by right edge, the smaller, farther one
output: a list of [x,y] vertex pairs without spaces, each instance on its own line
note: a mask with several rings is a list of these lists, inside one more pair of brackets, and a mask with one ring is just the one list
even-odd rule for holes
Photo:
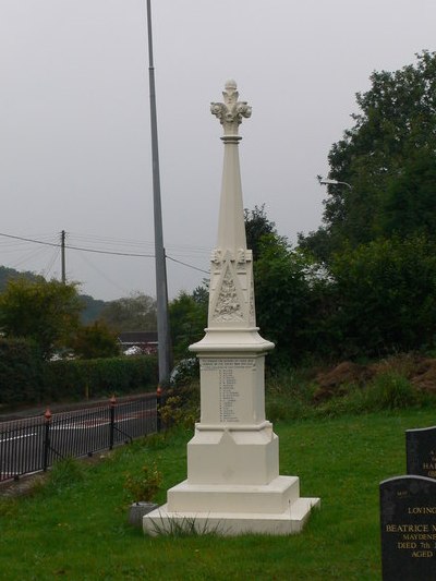
[[436,427],[407,429],[405,457],[408,474],[436,479]]

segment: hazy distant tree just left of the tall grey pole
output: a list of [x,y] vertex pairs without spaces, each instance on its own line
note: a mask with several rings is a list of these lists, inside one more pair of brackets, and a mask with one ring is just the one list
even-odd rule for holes
[[116,332],[156,329],[156,301],[143,293],[110,301],[100,318]]

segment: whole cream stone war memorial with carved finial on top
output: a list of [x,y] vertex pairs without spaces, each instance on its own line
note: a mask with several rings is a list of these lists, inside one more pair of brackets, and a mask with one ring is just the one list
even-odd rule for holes
[[252,252],[246,247],[238,144],[251,107],[234,81],[210,110],[225,159],[217,247],[211,253],[208,326],[190,350],[201,370],[201,421],[187,444],[187,479],[144,517],[150,534],[193,525],[223,535],[292,534],[319,498],[301,498],[298,476],[279,475],[279,440],[265,417],[264,364],[274,343],[256,327]]

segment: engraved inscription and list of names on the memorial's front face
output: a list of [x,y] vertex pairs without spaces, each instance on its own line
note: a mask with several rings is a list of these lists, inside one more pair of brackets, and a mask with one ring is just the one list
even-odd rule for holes
[[[202,372],[218,374],[219,421],[222,423],[240,422],[238,401],[241,397],[240,370],[255,371],[256,362],[249,358],[229,358],[202,360]],[[239,379],[239,380],[238,380]]]

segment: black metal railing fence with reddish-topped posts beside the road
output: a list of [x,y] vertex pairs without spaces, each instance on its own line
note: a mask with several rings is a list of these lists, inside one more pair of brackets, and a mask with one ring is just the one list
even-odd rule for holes
[[160,429],[160,394],[0,423],[0,482],[92,456]]

